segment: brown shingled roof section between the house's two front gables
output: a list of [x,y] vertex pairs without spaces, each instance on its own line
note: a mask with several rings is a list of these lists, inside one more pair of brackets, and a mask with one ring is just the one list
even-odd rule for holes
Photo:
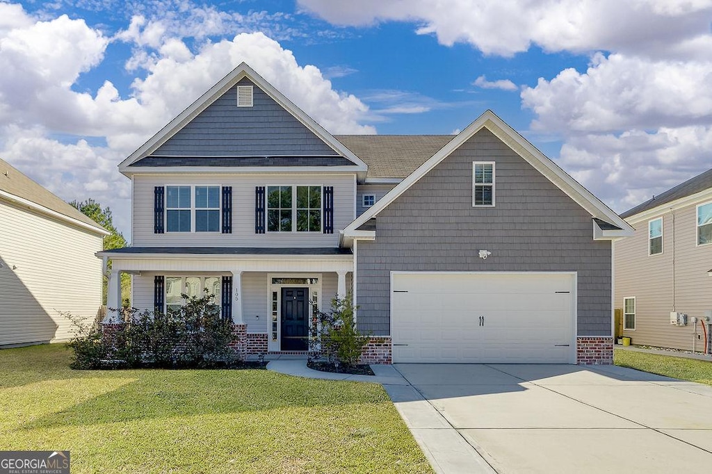
[[334,135],[368,164],[370,178],[404,179],[455,135]]

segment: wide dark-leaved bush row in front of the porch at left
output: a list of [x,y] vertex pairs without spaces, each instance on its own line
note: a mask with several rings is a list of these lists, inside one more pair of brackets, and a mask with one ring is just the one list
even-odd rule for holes
[[183,295],[186,304],[167,314],[121,308],[121,321],[102,331],[100,325],[83,326],[67,315],[77,329],[69,347],[73,369],[107,367],[209,368],[239,362],[229,347],[231,321],[220,317],[214,296]]

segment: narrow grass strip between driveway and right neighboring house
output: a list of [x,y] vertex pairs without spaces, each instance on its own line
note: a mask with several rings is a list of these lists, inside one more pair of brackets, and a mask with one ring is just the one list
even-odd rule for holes
[[712,385],[712,362],[706,360],[616,349],[613,352],[613,363],[675,379]]

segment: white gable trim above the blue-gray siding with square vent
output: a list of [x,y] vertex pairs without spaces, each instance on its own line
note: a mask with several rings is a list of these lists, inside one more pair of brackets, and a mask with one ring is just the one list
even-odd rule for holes
[[317,137],[323,140],[331,149],[333,149],[337,154],[345,157],[350,162],[355,164],[357,167],[357,172],[365,175],[367,164],[362,162],[359,157],[357,157],[353,152],[345,147],[341,142],[333,137],[329,132],[325,130],[324,127],[315,122],[311,117],[305,114],[303,110],[297,107],[291,100],[286,98],[281,92],[276,90],[270,83],[258,75],[250,66],[246,63],[240,63],[234,70],[232,70],[228,75],[222,78],[218,83],[213,85],[206,93],[201,95],[195,102],[193,102],[186,110],[181,112],[177,117],[168,122],[168,124],[163,127],[156,135],[151,137],[145,144],[137,149],[135,152],[130,154],[127,159],[119,164],[119,171],[122,173],[127,172],[127,167],[135,164],[138,160],[147,157],[148,155],[155,152],[162,144],[167,142],[169,138],[175,135],[179,130],[187,125],[191,120],[193,120],[200,112],[204,111],[211,103],[220,98],[224,93],[226,93],[230,88],[233,88],[240,80],[248,78],[251,80],[258,88],[263,90],[268,96],[270,96],[275,102],[277,102],[281,107],[287,110],[293,117],[295,117],[299,122],[301,122],[305,127],[307,127],[311,132],[313,132]]

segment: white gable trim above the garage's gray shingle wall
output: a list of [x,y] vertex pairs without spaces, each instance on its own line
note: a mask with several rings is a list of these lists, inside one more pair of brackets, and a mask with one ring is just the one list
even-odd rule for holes
[[[425,174],[430,172],[430,170],[436,167],[437,164],[442,162],[446,159],[446,157],[449,157],[452,152],[458,149],[461,144],[464,144],[464,142],[483,128],[490,130],[494,135],[496,135],[496,137],[501,139],[508,145],[508,147],[513,149],[514,152],[519,154],[520,157],[525,159],[526,162],[537,169],[538,172],[543,174],[553,184],[558,186],[583,209],[590,212],[593,218],[597,218],[600,221],[612,224],[612,226],[621,229],[620,231],[604,230],[601,229],[596,222],[594,222],[594,225],[598,227],[598,233],[596,232],[596,228],[594,228],[595,236],[598,235],[602,238],[606,238],[631,236],[633,234],[633,228],[629,226],[629,224],[620,216],[618,216],[618,214],[603,204],[600,199],[591,194],[590,191],[585,189],[585,187],[579,184],[575,179],[570,177],[557,164],[536,149],[533,144],[530,144],[501,118],[497,117],[494,112],[486,110],[486,112],[468,125],[465,130],[460,132],[459,135],[456,135],[456,137],[451,139],[450,142],[448,142],[444,147],[439,149],[436,154],[421,164],[406,179],[401,181],[397,184],[397,186],[388,191],[385,196],[376,201],[376,203],[367,209],[365,213],[361,214],[361,216],[356,218],[355,221],[346,226],[346,228],[341,232],[342,236],[355,236],[358,235],[358,232],[363,232],[358,230],[363,224],[370,221],[370,219],[375,218],[380,211],[385,209],[389,204],[403,194],[404,191],[409,189],[410,186],[417,183],[419,179],[424,177]],[[603,233],[601,231],[603,231]]]

